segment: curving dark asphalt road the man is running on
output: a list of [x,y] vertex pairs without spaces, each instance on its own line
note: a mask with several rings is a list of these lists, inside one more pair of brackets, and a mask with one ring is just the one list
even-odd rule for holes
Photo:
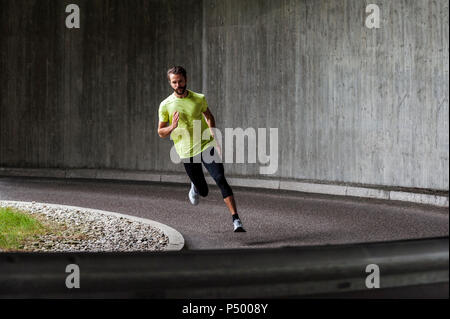
[[246,233],[234,233],[217,186],[198,206],[188,184],[0,177],[0,200],[82,206],[149,218],[187,249],[261,248],[448,236],[448,208],[233,187]]

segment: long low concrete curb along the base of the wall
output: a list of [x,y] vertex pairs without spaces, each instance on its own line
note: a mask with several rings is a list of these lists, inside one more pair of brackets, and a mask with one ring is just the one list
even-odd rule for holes
[[[55,177],[55,178],[91,178],[131,180],[167,183],[189,183],[188,177],[183,173],[158,173],[145,171],[103,170],[103,169],[37,169],[37,168],[2,168],[0,176],[22,177]],[[239,178],[229,176],[227,180],[231,186],[254,187],[278,190],[290,190],[304,193],[354,196],[363,198],[375,198],[384,200],[406,201],[418,204],[449,207],[448,196],[431,194],[391,191],[367,187],[355,187],[345,185],[317,184],[299,181],[284,181],[276,179]],[[206,177],[206,182],[215,184],[211,177]]]

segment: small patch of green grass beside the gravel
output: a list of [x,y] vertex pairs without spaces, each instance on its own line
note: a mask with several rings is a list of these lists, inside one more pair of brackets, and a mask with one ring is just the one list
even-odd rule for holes
[[19,250],[24,243],[45,234],[47,227],[25,212],[0,207],[0,249]]

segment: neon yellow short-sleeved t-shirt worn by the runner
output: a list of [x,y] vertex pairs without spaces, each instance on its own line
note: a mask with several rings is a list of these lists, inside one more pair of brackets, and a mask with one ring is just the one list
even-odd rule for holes
[[[188,90],[188,95],[178,98],[170,95],[159,105],[159,121],[172,124],[173,114],[180,113],[178,127],[170,133],[180,158],[193,157],[210,146],[216,146],[210,135],[208,123],[203,112],[208,108],[203,94]],[[205,132],[206,130],[206,132]],[[205,139],[202,139],[202,135]]]

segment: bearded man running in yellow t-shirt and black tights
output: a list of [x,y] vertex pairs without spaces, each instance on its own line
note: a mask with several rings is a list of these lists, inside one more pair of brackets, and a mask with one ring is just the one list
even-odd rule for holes
[[[189,200],[198,205],[199,195],[208,195],[208,184],[203,174],[202,163],[212,176],[222,193],[223,200],[231,212],[235,232],[245,232],[237,214],[233,191],[225,179],[224,167],[220,160],[220,146],[214,138],[215,120],[203,94],[186,89],[186,70],[176,66],[167,71],[167,78],[173,94],[159,105],[158,135],[165,138],[171,135],[175,150],[183,161],[184,168],[191,180]],[[202,116],[203,115],[203,116]],[[194,121],[201,123],[201,134],[194,140]],[[210,129],[210,137],[202,139],[204,130]],[[177,132],[178,129],[178,132]],[[184,130],[189,134],[181,134]],[[172,133],[173,132],[173,133]],[[179,134],[177,134],[179,133]]]

